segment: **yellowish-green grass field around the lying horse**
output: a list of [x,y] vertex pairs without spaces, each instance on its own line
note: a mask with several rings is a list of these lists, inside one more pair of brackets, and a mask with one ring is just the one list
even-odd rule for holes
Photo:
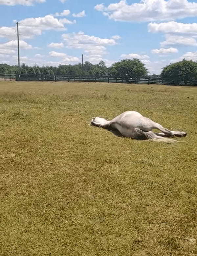
[[[197,88],[0,82],[0,255],[197,255]],[[89,126],[135,110],[184,143]]]

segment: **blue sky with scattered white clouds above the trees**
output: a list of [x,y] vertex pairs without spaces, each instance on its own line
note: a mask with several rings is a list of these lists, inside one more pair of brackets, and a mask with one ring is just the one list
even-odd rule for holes
[[189,0],[0,0],[0,63],[84,61],[107,66],[139,58],[150,74],[197,61],[197,2]]

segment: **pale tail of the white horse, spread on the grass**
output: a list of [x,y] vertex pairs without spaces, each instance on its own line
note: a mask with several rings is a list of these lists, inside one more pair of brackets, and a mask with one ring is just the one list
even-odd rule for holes
[[144,132],[143,130],[136,128],[135,129],[135,139],[137,140],[151,140],[155,142],[167,142],[167,143],[174,143],[179,142],[173,139],[157,136],[154,132]]

